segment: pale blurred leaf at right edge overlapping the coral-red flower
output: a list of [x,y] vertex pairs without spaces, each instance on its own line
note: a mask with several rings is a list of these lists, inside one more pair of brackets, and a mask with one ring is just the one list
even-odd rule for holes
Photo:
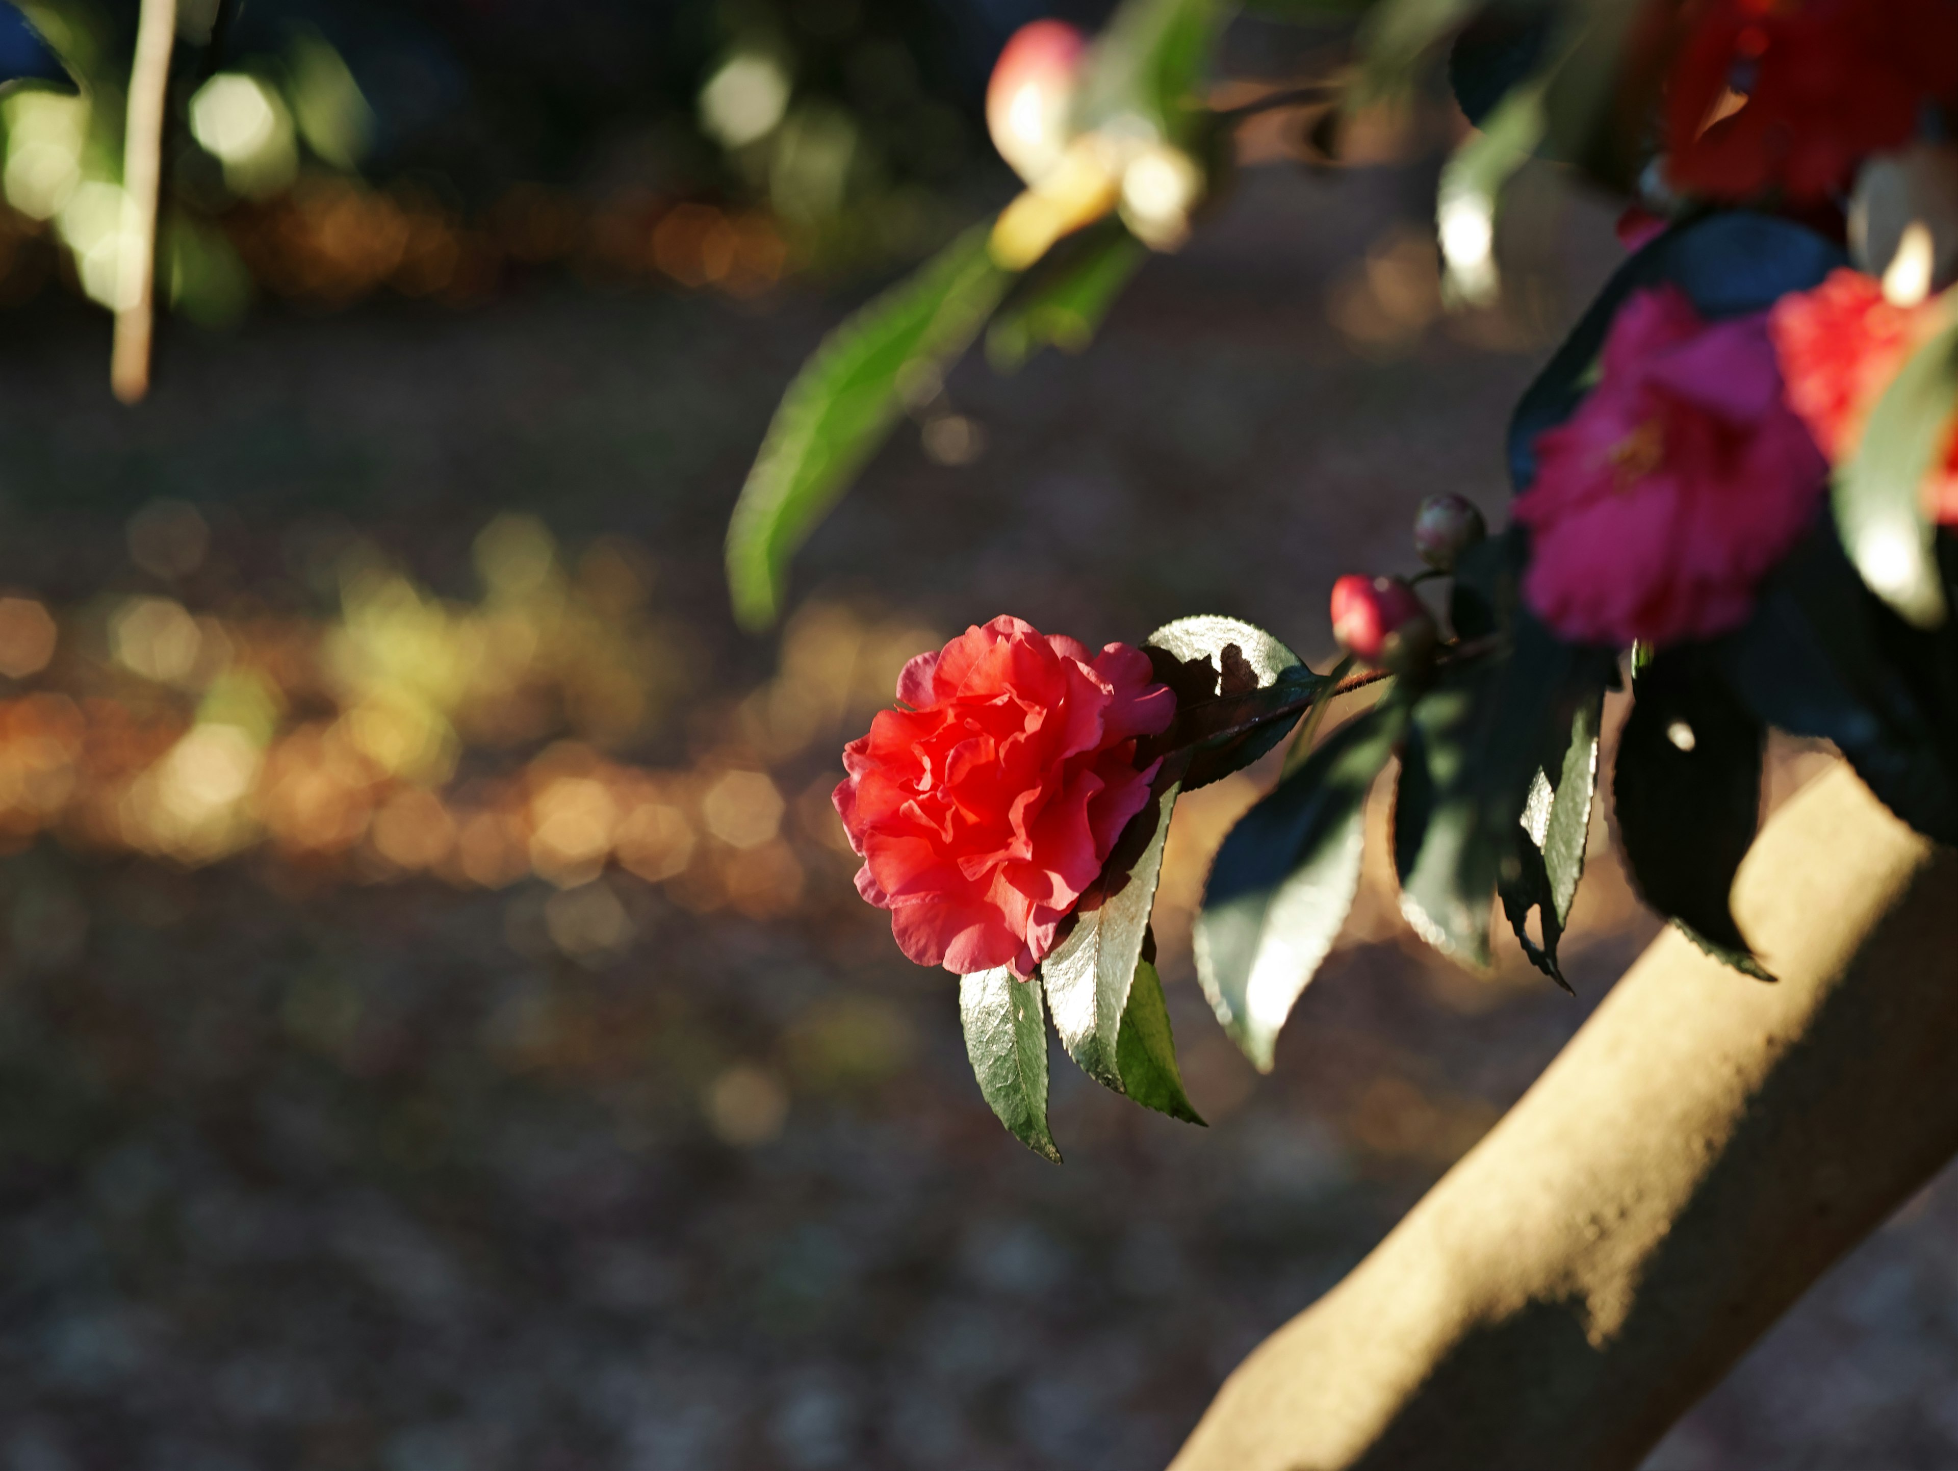
[[1946,613],[1925,480],[1950,445],[1954,405],[1958,321],[1948,317],[1884,390],[1835,482],[1842,548],[1870,592],[1921,629]]

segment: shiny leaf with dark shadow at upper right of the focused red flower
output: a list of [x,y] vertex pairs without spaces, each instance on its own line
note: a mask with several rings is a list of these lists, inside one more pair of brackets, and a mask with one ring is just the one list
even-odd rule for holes
[[1177,691],[1177,719],[1138,760],[1190,750],[1183,789],[1241,772],[1284,740],[1328,682],[1253,623],[1212,613],[1165,623],[1143,642],[1155,678]]

